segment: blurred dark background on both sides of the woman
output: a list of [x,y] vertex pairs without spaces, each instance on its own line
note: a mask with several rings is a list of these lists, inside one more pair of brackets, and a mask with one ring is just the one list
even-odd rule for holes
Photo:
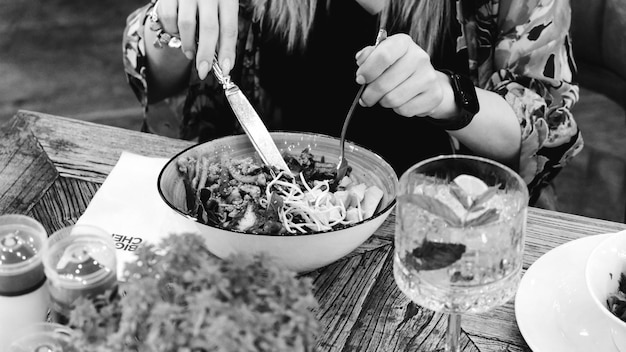
[[[0,0],[0,123],[26,109],[138,130],[121,38],[126,17],[147,1]],[[557,207],[624,222],[626,2],[572,0],[572,8],[574,114],[586,146],[555,180]]]

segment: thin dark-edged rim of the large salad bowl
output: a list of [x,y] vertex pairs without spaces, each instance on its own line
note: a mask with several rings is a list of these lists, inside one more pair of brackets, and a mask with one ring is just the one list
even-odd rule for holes
[[[337,137],[333,137],[327,134],[323,134],[323,133],[315,133],[315,132],[298,132],[298,131],[282,131],[282,130],[277,130],[277,131],[271,131],[270,135],[274,136],[274,135],[306,135],[306,136],[310,136],[310,137],[316,137],[316,136],[320,136],[322,138],[329,138],[329,139],[336,139],[337,141],[339,141],[339,139]],[[178,209],[177,207],[175,207],[163,194],[163,190],[161,189],[161,179],[163,178],[163,174],[165,172],[165,169],[167,169],[167,167],[173,163],[174,161],[176,161],[176,159],[178,159],[178,157],[180,157],[182,154],[197,148],[203,144],[207,144],[207,143],[211,143],[211,142],[217,142],[220,140],[227,140],[227,139],[233,139],[233,138],[242,138],[242,136],[246,136],[245,133],[240,133],[240,134],[232,134],[232,135],[227,135],[227,136],[223,136],[223,137],[219,137],[216,139],[212,139],[210,141],[206,141],[206,142],[202,142],[202,143],[196,143],[194,145],[191,145],[181,151],[179,151],[178,153],[176,153],[174,156],[172,156],[166,163],[165,165],[163,165],[163,167],[161,168],[161,171],[159,171],[159,176],[157,177],[157,191],[159,192],[159,196],[161,197],[161,199],[163,200],[163,202],[165,202],[165,204],[167,204],[167,206],[174,210],[176,213],[184,216],[187,219],[192,220],[193,222],[200,224],[200,225],[205,225],[208,226],[210,228],[214,228],[214,229],[218,229],[218,230],[223,230],[223,231],[227,231],[227,232],[234,232],[234,233],[238,233],[238,234],[242,234],[242,235],[249,235],[249,236],[267,236],[267,237],[286,237],[286,238],[291,238],[291,237],[303,237],[303,236],[314,236],[314,235],[321,235],[321,234],[326,234],[326,233],[332,233],[332,232],[337,232],[337,231],[342,231],[342,230],[347,230],[347,229],[351,229],[354,228],[358,225],[364,224],[366,222],[370,222],[374,219],[377,219],[385,214],[387,214],[395,205],[397,202],[397,191],[398,191],[398,187],[399,187],[399,178],[398,178],[398,174],[396,173],[396,171],[393,169],[393,167],[391,166],[391,164],[389,164],[389,162],[387,160],[385,160],[385,158],[383,158],[380,154],[376,153],[375,151],[366,148],[360,144],[351,142],[349,140],[346,140],[346,147],[348,147],[348,145],[352,145],[354,147],[360,148],[360,149],[364,149],[366,151],[368,151],[369,153],[372,153],[374,156],[376,156],[377,158],[379,158],[387,167],[389,167],[389,169],[392,172],[392,175],[390,175],[390,177],[392,178],[393,184],[394,184],[394,188],[396,189],[396,194],[393,195],[393,198],[391,199],[391,201],[389,202],[389,204],[387,204],[387,206],[385,206],[384,208],[380,209],[379,211],[377,211],[376,213],[374,213],[374,215],[370,216],[367,219],[363,219],[359,222],[355,222],[349,225],[345,225],[344,227],[341,227],[339,229],[331,229],[331,230],[324,230],[324,231],[315,231],[315,232],[311,232],[311,233],[303,233],[303,234],[297,234],[297,235],[285,235],[285,236],[279,236],[279,235],[267,235],[267,234],[261,234],[261,233],[251,233],[251,232],[246,232],[246,231],[240,231],[240,230],[235,230],[235,229],[224,229],[221,227],[216,227],[216,226],[211,226],[211,225],[207,225],[207,224],[201,224],[198,222],[198,220],[189,215],[184,213],[183,211],[181,211],[180,209]]]

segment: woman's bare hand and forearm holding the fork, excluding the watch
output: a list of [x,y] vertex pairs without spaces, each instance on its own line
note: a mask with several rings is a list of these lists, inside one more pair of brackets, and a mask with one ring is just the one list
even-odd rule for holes
[[[459,113],[448,76],[406,34],[390,36],[357,53],[357,82],[367,84],[362,105],[376,103],[402,116],[446,119]],[[511,106],[498,94],[476,89],[480,111],[472,122],[448,131],[478,155],[516,167],[521,130]]]

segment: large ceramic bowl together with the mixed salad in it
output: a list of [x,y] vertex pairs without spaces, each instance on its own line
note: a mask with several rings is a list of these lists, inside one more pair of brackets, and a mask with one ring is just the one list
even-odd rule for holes
[[335,180],[338,138],[271,135],[290,172],[264,165],[246,135],[192,146],[161,170],[161,199],[194,224],[212,253],[265,253],[309,272],[355,250],[389,216],[398,177],[378,154],[347,142],[350,171]]

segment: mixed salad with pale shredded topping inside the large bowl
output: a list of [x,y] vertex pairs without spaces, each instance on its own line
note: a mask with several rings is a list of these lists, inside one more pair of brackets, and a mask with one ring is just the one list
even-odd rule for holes
[[271,235],[329,231],[374,214],[383,197],[378,187],[351,174],[336,182],[335,165],[313,159],[308,149],[287,157],[288,172],[251,157],[179,158],[189,214],[202,224]]

